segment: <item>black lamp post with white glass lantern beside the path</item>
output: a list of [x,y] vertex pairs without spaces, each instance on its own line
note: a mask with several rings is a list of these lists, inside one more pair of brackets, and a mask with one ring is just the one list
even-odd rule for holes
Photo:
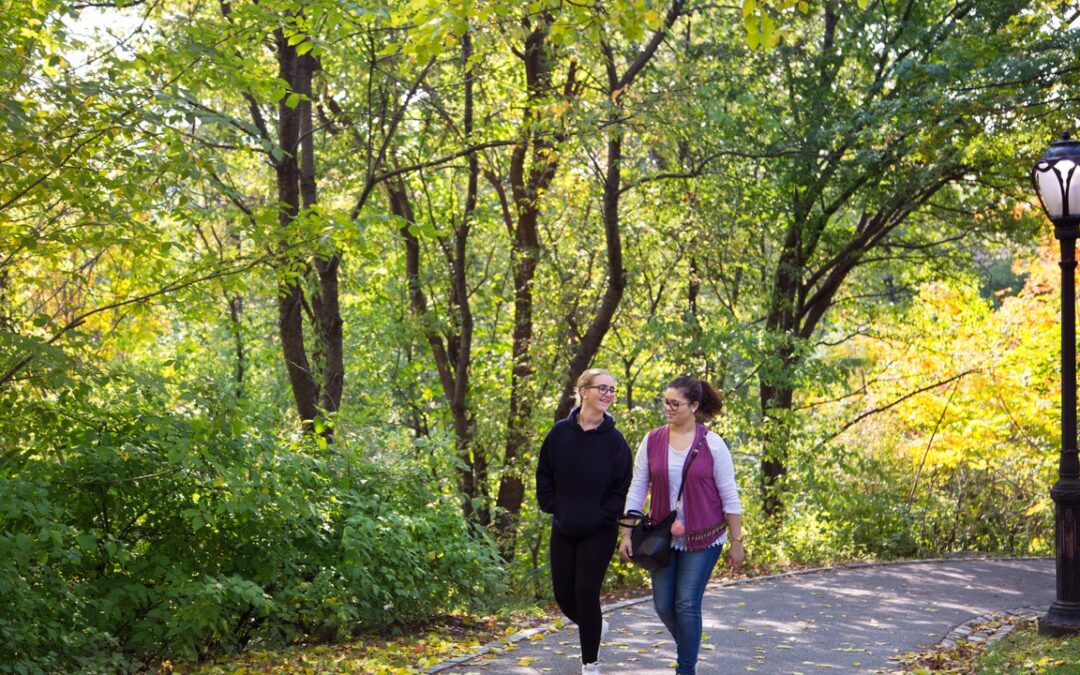
[[1062,455],[1054,500],[1057,599],[1043,635],[1080,633],[1080,457],[1077,455],[1076,246],[1080,237],[1080,143],[1065,134],[1031,170],[1031,184],[1062,243]]

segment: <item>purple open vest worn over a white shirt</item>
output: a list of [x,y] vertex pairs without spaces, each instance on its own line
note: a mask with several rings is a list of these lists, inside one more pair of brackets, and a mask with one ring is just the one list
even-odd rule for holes
[[[724,519],[724,500],[716,489],[716,481],[713,480],[713,454],[708,449],[708,443],[704,441],[708,430],[703,424],[698,424],[698,433],[693,437],[690,447],[694,447],[701,442],[698,448],[698,458],[690,464],[690,471],[686,477],[686,487],[683,488],[683,513],[686,523],[686,548],[690,551],[700,551],[715,542],[724,530],[727,529],[727,522]],[[667,482],[667,448],[670,443],[670,426],[664,424],[649,432],[649,484],[651,486],[651,499],[649,501],[649,517],[660,521],[672,511],[669,495],[671,488]],[[687,461],[690,461],[689,455]]]

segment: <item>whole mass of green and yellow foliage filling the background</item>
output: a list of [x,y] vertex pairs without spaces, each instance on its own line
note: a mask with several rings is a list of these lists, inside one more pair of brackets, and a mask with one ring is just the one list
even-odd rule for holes
[[[489,600],[500,582],[549,599],[531,472],[616,238],[625,293],[593,365],[619,380],[632,447],[662,422],[673,376],[721,389],[713,427],[735,455],[752,563],[1049,551],[1056,282],[1004,268],[1041,225],[1023,173],[1075,98],[1077,31],[1052,9],[746,0],[741,14],[681,4],[665,28],[676,5],[656,0],[136,3],[141,28],[102,45],[77,37],[68,4],[9,4],[0,669],[341,639]],[[318,59],[311,92],[283,79],[278,36]],[[654,37],[633,84],[608,91]],[[279,147],[275,116],[308,106],[318,200],[283,219],[274,171],[297,149]],[[543,190],[508,190],[537,167],[554,171]],[[407,231],[375,181],[389,171],[411,195]],[[527,316],[525,206],[539,220]],[[782,259],[788,235],[801,248]],[[278,294],[301,284],[296,311],[314,315],[329,254],[346,393],[306,437]],[[770,323],[847,264],[819,323]],[[789,306],[788,276],[804,284]],[[527,442],[507,459],[514,434]],[[784,453],[770,519],[760,463]],[[474,512],[510,516],[512,563],[463,523],[464,476]],[[494,509],[515,480],[519,511]],[[613,588],[644,580],[611,569]]]

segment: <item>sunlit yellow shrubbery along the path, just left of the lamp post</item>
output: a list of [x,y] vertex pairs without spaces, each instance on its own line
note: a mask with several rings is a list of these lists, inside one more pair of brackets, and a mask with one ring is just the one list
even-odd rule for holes
[[[870,336],[834,350],[850,379],[824,380],[821,401],[808,402],[818,421],[800,418],[789,517],[765,532],[759,554],[810,563],[1052,553],[1059,352],[1056,295],[1044,289],[1057,270],[1042,254],[1017,262],[1027,282],[996,311],[973,278],[931,284],[878,315]],[[897,350],[903,364],[887,364]],[[836,395],[845,390],[854,393]],[[845,418],[851,430],[838,432]]]

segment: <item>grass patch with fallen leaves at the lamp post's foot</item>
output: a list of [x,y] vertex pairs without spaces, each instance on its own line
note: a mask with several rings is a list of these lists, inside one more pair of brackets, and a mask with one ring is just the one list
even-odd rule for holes
[[990,647],[975,666],[977,675],[1077,675],[1080,635],[1047,637],[1027,621]]

